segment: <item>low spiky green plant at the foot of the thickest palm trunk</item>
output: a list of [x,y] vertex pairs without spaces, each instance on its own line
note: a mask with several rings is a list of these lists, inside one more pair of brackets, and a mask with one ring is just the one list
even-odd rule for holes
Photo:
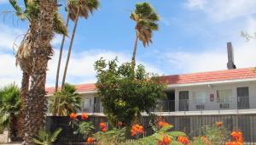
[[53,142],[55,142],[61,131],[61,128],[56,129],[54,133],[50,133],[45,130],[39,130],[38,136],[33,138],[33,142],[38,145],[51,145]]

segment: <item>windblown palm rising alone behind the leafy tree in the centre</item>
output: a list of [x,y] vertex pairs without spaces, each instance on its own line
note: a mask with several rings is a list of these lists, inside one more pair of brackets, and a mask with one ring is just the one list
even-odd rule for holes
[[142,41],[144,47],[147,47],[149,42],[152,42],[152,33],[158,30],[157,21],[159,20],[159,16],[149,3],[137,3],[136,9],[131,13],[130,18],[136,22],[136,38],[131,58],[131,66],[134,70],[136,65],[137,41],[138,39]]

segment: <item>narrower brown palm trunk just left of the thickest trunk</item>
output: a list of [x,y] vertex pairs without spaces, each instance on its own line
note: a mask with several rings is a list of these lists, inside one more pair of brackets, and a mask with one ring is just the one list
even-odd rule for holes
[[20,116],[18,118],[17,130],[18,130],[18,137],[24,138],[24,130],[25,130],[25,100],[28,96],[29,91],[29,73],[23,70],[22,74],[22,81],[21,81],[21,93],[20,93],[20,100],[21,100],[21,109],[20,109]]

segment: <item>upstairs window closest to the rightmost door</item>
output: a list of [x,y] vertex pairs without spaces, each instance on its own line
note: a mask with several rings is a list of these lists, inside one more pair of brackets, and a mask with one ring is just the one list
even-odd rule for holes
[[217,98],[218,103],[230,103],[232,100],[232,90],[218,90]]

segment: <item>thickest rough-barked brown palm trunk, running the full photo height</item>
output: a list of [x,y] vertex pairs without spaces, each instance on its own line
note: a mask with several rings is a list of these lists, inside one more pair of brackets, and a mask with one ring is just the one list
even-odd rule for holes
[[34,42],[34,65],[32,70],[31,88],[29,97],[26,98],[26,135],[25,145],[34,144],[32,138],[38,134],[38,131],[44,125],[47,110],[47,99],[45,97],[45,81],[47,63],[50,55],[53,54],[50,41],[53,34],[54,14],[57,10],[55,1],[38,1],[38,27]]

